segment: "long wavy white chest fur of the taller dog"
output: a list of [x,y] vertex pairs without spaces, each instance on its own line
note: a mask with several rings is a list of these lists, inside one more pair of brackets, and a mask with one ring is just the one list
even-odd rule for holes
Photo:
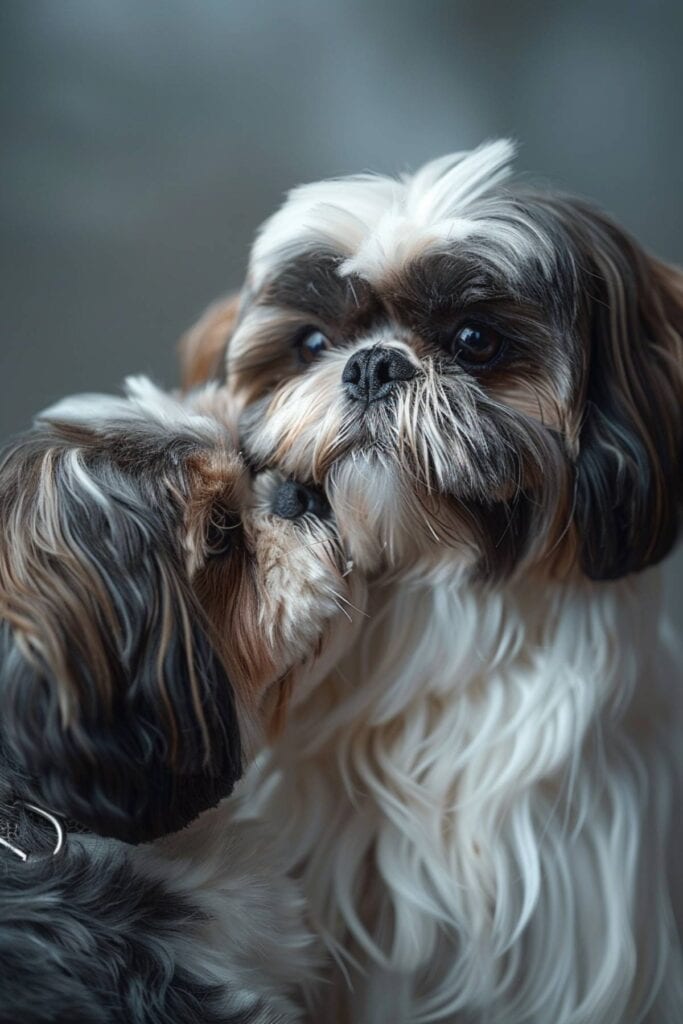
[[319,998],[364,1024],[680,1019],[657,573],[374,603],[252,779],[352,976]]

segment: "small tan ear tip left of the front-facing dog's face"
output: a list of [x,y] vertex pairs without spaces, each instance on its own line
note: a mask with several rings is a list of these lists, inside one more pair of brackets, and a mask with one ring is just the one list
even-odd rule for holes
[[213,302],[179,343],[182,389],[206,384],[224,372],[225,349],[237,326],[240,295]]

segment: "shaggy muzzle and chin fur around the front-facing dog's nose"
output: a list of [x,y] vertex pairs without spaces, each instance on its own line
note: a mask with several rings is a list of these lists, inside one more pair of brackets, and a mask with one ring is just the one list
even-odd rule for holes
[[[566,571],[577,555],[572,476],[557,432],[490,401],[479,382],[439,374],[430,357],[416,381],[359,413],[340,381],[367,344],[326,353],[245,410],[255,465],[325,485],[366,572],[444,560],[489,579],[539,563]],[[407,342],[387,345],[415,360]]]

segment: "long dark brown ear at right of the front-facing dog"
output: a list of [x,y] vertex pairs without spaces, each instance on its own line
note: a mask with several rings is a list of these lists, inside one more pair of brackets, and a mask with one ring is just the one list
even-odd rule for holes
[[575,521],[585,572],[613,580],[658,562],[678,531],[683,273],[590,206],[563,206],[587,338]]

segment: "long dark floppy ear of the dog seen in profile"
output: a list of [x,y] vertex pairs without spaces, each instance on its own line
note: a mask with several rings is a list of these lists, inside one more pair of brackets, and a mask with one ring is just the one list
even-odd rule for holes
[[19,796],[147,841],[240,777],[232,688],[170,523],[44,435],[0,467],[0,758]]

